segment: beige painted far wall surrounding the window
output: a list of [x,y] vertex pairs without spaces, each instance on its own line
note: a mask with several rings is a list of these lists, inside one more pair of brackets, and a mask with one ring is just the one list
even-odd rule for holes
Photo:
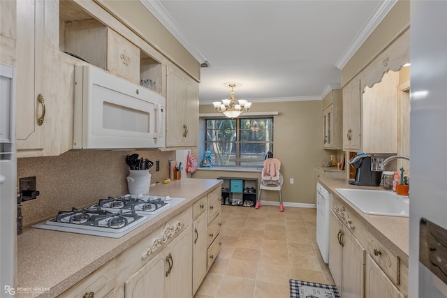
[[[278,112],[274,116],[273,155],[281,160],[284,177],[284,202],[314,204],[314,169],[328,160],[334,151],[322,149],[323,120],[321,100],[278,103],[254,103],[250,112]],[[216,112],[212,105],[200,105],[200,113]],[[193,151],[200,162],[203,152]],[[254,177],[261,181],[259,172],[198,170],[193,178]],[[290,184],[293,178],[295,183]],[[262,200],[279,201],[276,191],[265,191]]]

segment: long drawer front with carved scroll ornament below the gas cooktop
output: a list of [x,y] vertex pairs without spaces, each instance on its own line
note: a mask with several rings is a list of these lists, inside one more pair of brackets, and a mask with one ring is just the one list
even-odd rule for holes
[[[173,239],[175,239],[183,230],[186,230],[192,223],[193,208],[190,207],[181,214],[171,218],[167,223],[161,225],[147,237],[127,249],[117,256],[117,284],[124,283],[129,276],[138,271],[149,260],[158,255],[163,248],[166,248]],[[177,223],[181,223],[183,228],[173,232],[166,229],[175,227]],[[168,226],[169,225],[169,226]],[[173,234],[172,234],[173,232]]]

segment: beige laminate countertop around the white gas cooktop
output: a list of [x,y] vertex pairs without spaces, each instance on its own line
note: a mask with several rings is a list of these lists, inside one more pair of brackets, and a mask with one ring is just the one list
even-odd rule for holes
[[150,195],[170,195],[186,200],[119,239],[24,229],[17,237],[16,288],[20,291],[16,291],[16,297],[57,297],[221,183],[217,179],[180,179],[151,186]]

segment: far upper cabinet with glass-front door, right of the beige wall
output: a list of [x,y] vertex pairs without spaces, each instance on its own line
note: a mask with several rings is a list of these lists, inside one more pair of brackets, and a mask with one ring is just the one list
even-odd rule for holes
[[323,98],[323,149],[342,149],[342,90]]

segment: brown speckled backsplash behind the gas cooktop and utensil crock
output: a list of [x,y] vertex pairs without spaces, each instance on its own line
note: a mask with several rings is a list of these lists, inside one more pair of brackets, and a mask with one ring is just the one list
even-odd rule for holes
[[[23,226],[45,221],[61,210],[128,193],[125,158],[133,153],[154,163],[149,170],[151,184],[169,177],[168,160],[175,160],[175,151],[68,151],[60,156],[17,158],[17,186],[20,178],[36,176],[40,192],[36,200],[22,202]],[[159,172],[156,161],[160,161]]]

